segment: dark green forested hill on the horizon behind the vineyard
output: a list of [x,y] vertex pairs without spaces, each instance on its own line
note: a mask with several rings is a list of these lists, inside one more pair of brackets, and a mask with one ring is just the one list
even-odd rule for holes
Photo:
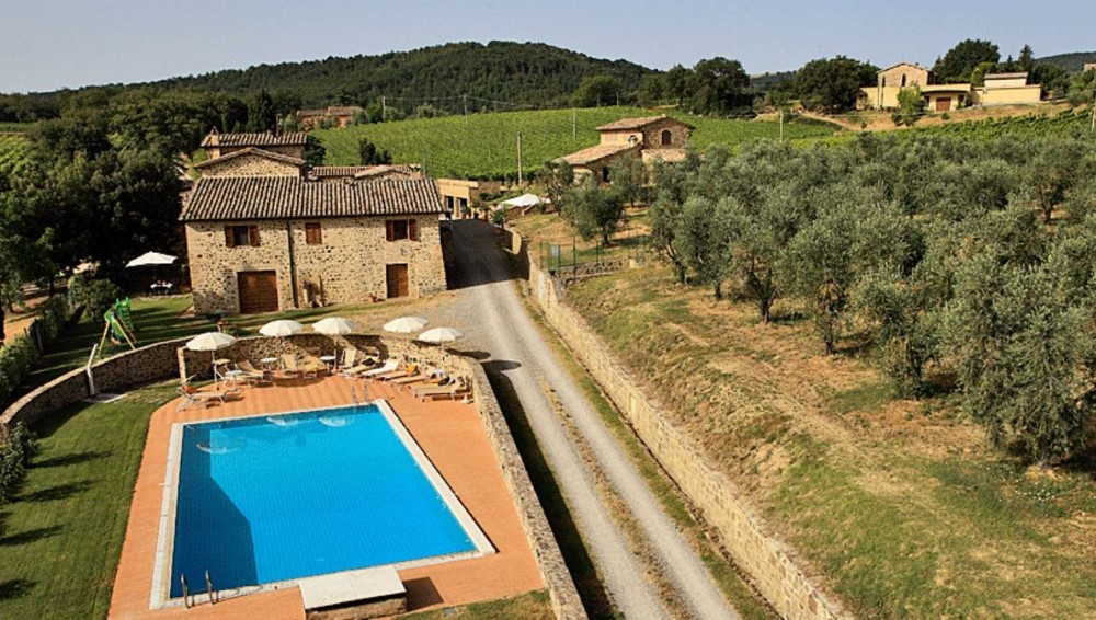
[[[367,105],[386,97],[410,114],[430,104],[443,113],[560,107],[584,78],[608,77],[625,92],[654,72],[626,60],[592,58],[543,43],[449,43],[379,56],[258,65],[149,83],[89,87],[30,95],[0,95],[0,120],[59,116],[65,102],[125,91],[212,91],[248,99],[267,91],[282,112],[335,104]],[[467,100],[465,99],[467,95]],[[608,103],[608,102],[606,102]]]

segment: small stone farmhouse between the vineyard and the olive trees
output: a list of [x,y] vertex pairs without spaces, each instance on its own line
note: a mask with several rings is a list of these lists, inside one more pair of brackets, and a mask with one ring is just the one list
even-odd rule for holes
[[562,158],[576,174],[592,174],[608,183],[609,169],[620,158],[632,154],[644,162],[680,161],[694,127],[666,115],[623,118],[597,128],[601,143]]

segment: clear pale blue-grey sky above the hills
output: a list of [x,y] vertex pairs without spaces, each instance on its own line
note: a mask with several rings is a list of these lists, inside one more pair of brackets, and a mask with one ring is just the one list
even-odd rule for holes
[[449,42],[543,42],[655,69],[756,74],[838,54],[932,65],[964,38],[1096,50],[1094,0],[0,0],[0,92],[150,81]]

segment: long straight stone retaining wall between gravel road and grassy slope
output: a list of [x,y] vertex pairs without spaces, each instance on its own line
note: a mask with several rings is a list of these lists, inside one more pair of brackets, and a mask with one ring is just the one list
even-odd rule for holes
[[[514,233],[517,237],[516,233]],[[510,240],[507,240],[510,241]],[[509,243],[510,249],[523,246]],[[695,443],[663,415],[640,383],[617,363],[608,347],[563,300],[562,286],[532,262],[530,297],[548,323],[616,404],[662,468],[704,513],[735,562],[753,579],[781,618],[829,620],[849,617],[799,565],[795,551],[765,533],[765,525],[723,473],[712,470]]]

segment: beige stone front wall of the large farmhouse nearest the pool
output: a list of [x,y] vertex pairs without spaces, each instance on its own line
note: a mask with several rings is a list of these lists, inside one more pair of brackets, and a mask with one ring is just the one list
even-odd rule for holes
[[[387,241],[389,219],[414,219],[419,239]],[[321,242],[309,244],[306,225],[316,223]],[[226,225],[258,227],[259,245],[227,246]],[[278,310],[386,299],[386,265],[408,266],[411,297],[446,288],[436,215],[190,221],[185,230],[194,311],[199,314],[240,311],[240,272],[275,272]]]

